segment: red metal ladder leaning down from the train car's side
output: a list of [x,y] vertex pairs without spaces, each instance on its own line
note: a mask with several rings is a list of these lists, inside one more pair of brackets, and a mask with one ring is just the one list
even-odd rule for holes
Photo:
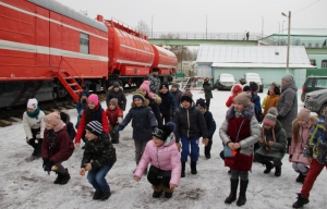
[[75,102],[78,102],[78,95],[82,93],[82,87],[75,81],[75,78],[64,70],[55,71],[53,74],[58,77],[62,86],[72,96]]

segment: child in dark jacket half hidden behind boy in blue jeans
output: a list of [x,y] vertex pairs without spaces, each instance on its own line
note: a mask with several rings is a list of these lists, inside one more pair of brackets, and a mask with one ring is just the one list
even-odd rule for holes
[[216,122],[213,118],[213,113],[207,110],[207,106],[204,99],[199,98],[196,100],[196,107],[199,109],[199,111],[203,113],[206,125],[207,125],[207,131],[208,131],[208,144],[205,146],[205,156],[207,159],[211,158],[210,150],[211,150],[211,145],[213,145],[213,136],[216,131]]

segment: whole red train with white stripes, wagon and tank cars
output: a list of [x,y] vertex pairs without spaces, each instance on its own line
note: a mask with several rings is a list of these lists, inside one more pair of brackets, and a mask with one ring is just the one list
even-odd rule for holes
[[0,14],[1,109],[32,97],[77,101],[82,88],[100,91],[113,79],[140,85],[152,67],[169,77],[177,65],[142,34],[55,0],[1,0]]

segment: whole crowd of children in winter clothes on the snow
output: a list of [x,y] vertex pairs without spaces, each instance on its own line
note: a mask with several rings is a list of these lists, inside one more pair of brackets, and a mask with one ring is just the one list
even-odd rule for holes
[[[290,77],[286,76],[286,79]],[[82,138],[85,150],[80,174],[85,175],[87,172],[87,180],[95,188],[93,199],[106,200],[111,196],[106,175],[117,160],[112,144],[119,144],[120,132],[132,121],[136,162],[134,180],[140,181],[143,174],[147,174],[154,189],[153,197],[159,198],[165,193],[165,198],[171,198],[180,184],[180,177],[185,177],[189,156],[191,174],[197,174],[201,137],[205,145],[205,157],[211,157],[216,122],[209,111],[213,95],[208,82],[206,79],[204,83],[208,91],[205,99],[199,98],[194,102],[192,93],[187,89],[182,93],[178,84],[173,84],[169,90],[167,83],[158,85],[157,82],[152,84],[145,81],[133,94],[125,116],[123,111],[126,99],[119,83],[114,82],[109,88],[106,110],[101,108],[97,95],[88,96],[88,93],[83,91],[76,107],[77,132],[68,113],[52,112],[46,116],[39,110],[38,101],[33,98],[27,101],[23,114],[26,142],[33,147],[32,156],[43,158],[44,170],[57,174],[53,183],[63,185],[70,181],[70,173],[62,162],[73,155],[75,146],[80,147]],[[150,84],[155,89],[158,88],[158,95],[152,93]],[[253,161],[266,167],[265,174],[275,168],[275,175],[280,176],[282,158],[289,152],[289,162],[299,173],[295,182],[303,184],[298,201],[292,206],[300,208],[308,204],[310,190],[327,164],[327,111],[317,119],[311,115],[308,109],[301,109],[292,122],[289,143],[290,133],[280,122],[281,114],[277,110],[282,94],[280,86],[277,83],[269,85],[263,107],[256,93],[257,87],[256,83],[243,87],[237,84],[226,102],[229,109],[219,128],[226,151],[230,150],[230,156],[225,156],[225,151],[221,155],[231,175],[230,194],[225,202],[232,204],[238,199],[238,206],[245,205],[249,171]],[[257,149],[254,148],[255,144],[258,145]]]

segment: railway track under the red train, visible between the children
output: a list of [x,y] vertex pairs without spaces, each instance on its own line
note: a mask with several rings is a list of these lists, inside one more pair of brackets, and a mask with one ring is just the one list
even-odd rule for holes
[[[124,94],[129,95],[136,90],[136,86],[124,88]],[[105,101],[107,94],[98,94],[99,101]],[[76,108],[76,102],[73,99],[62,100],[62,101],[46,101],[40,102],[39,109],[49,114],[53,111],[71,110]],[[23,113],[26,111],[26,107],[13,107],[7,108],[0,111],[0,127],[10,126],[13,123],[20,123],[23,120]]]

